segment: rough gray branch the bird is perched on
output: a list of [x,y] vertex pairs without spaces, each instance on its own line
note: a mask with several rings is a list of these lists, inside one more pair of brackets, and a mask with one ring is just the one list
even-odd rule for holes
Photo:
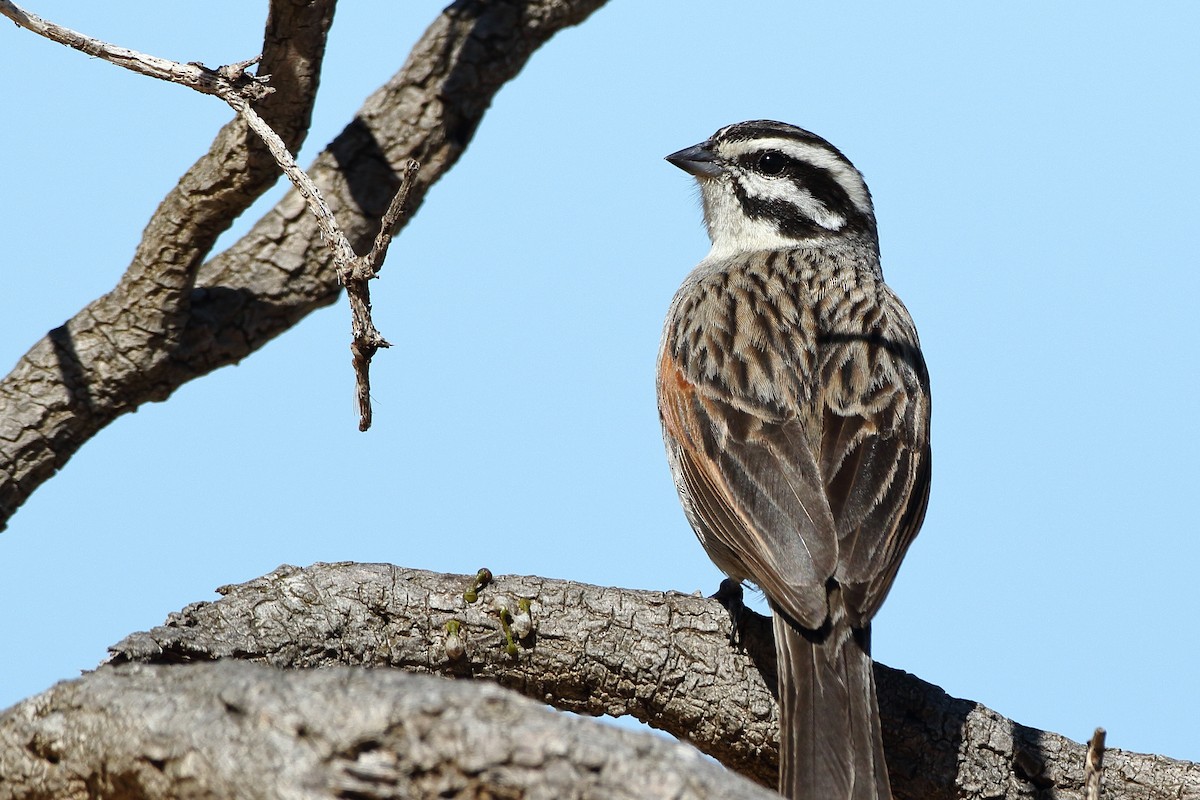
[[[245,658],[486,678],[560,709],[630,714],[774,786],[774,646],[764,618],[750,621],[739,651],[728,642],[728,614],[701,597],[500,577],[468,603],[472,585],[473,577],[383,564],[280,567],[126,638],[112,661]],[[530,601],[532,626],[511,657],[498,608],[518,609],[521,599]],[[449,622],[457,624],[461,655],[448,649]],[[876,676],[898,796],[1082,795],[1082,745],[882,664]],[[1109,751],[1105,766],[1112,800],[1200,799],[1200,765]]]

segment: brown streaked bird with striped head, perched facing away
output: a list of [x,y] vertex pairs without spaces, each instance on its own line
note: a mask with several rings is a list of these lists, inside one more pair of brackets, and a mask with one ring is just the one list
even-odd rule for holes
[[925,517],[930,391],[870,191],[773,120],[666,160],[698,182],[712,247],[667,312],[662,438],[708,557],[772,609],[779,792],[890,798],[871,618]]

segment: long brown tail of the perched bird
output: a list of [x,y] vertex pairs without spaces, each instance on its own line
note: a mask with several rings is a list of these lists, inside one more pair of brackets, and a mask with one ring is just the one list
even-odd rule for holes
[[782,614],[774,619],[779,793],[793,800],[890,800],[864,643],[845,625],[815,640]]

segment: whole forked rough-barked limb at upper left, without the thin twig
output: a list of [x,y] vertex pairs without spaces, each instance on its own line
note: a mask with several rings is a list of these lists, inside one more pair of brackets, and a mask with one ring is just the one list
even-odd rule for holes
[[[358,252],[370,246],[404,163],[422,164],[415,210],[499,88],[554,32],[602,4],[460,0],[434,20],[308,170]],[[259,71],[271,73],[276,92],[259,110],[270,109],[268,120],[293,150],[307,130],[332,5],[271,6]],[[202,264],[276,178],[265,150],[230,122],[163,200],[118,287],[50,331],[0,381],[0,528],[116,416],[239,361],[337,297],[329,253],[295,192]]]

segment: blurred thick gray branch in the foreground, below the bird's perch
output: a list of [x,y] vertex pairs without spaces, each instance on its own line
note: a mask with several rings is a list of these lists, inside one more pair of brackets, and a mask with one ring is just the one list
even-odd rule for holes
[[59,684],[0,716],[0,800],[776,796],[484,682],[236,662]]

